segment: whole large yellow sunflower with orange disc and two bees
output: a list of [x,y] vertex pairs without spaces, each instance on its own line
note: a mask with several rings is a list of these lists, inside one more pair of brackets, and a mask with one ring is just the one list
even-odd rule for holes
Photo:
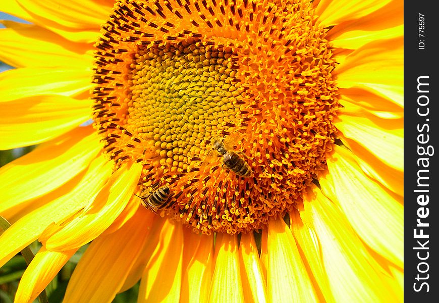
[[[0,10],[0,265],[17,302],[403,300],[403,7],[27,0]],[[92,122],[90,122],[92,121]]]

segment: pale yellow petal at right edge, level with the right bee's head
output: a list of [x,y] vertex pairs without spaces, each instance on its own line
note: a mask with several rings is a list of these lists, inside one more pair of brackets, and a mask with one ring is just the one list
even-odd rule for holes
[[[404,121],[380,119],[366,111],[342,109],[335,122],[348,142],[354,141],[393,169],[404,170]],[[357,146],[355,145],[355,148]],[[354,146],[353,146],[354,148]],[[356,150],[353,150],[354,153]]]

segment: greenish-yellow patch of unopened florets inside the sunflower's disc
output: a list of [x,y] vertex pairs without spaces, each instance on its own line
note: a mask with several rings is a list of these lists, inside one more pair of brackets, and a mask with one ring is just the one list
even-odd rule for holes
[[142,46],[134,56],[127,123],[171,172],[204,158],[206,142],[241,117],[237,58],[207,46],[185,40]]

